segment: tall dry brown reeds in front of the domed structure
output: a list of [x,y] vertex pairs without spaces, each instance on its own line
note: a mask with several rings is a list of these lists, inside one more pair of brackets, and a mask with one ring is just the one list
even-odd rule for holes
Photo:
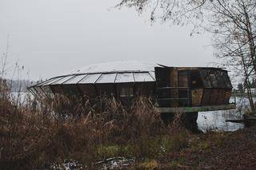
[[5,84],[0,87],[1,169],[49,168],[66,159],[94,168],[107,156],[154,157],[163,141],[169,144],[166,136],[173,135],[147,97],[128,108],[114,98],[103,98],[104,107],[98,109],[61,95],[37,105],[27,97],[18,104]]

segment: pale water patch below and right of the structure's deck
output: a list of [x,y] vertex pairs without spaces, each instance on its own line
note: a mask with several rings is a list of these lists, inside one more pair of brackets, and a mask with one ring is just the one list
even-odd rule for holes
[[244,128],[242,123],[226,122],[227,119],[242,118],[242,110],[246,109],[249,105],[249,101],[245,97],[231,97],[230,103],[234,101],[237,104],[237,109],[199,112],[198,128],[203,132],[207,130],[235,131],[239,128]]

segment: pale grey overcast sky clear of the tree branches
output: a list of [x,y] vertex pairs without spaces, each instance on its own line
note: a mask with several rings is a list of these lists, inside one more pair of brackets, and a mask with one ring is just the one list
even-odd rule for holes
[[[209,34],[190,37],[190,27],[154,23],[135,10],[114,9],[118,0],[1,0],[0,53],[11,75],[15,62],[30,79],[58,76],[106,61],[152,61],[207,66],[214,61]],[[2,57],[2,56],[1,56]],[[6,67],[7,67],[6,66]]]

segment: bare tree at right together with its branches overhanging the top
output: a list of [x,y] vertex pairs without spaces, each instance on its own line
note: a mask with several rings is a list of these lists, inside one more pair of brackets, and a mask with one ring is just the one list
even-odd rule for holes
[[[255,0],[122,0],[118,6],[133,6],[139,12],[150,8],[152,21],[192,24],[191,33],[209,31],[213,34],[215,56],[224,61],[223,66],[242,75],[246,84],[255,79]],[[247,95],[251,109],[255,110],[250,88]]]

